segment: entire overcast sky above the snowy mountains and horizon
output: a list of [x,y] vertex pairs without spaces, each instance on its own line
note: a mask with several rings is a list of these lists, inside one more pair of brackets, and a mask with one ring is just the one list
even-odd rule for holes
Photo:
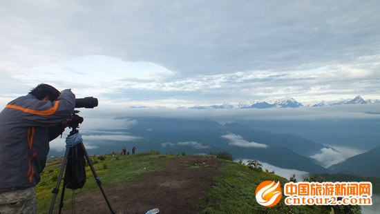
[[380,99],[380,1],[0,1],[0,103]]

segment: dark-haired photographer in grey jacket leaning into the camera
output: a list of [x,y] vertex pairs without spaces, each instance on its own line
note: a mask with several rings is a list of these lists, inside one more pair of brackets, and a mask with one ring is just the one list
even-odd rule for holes
[[0,113],[0,213],[37,213],[35,188],[49,142],[64,131],[75,95],[39,84]]

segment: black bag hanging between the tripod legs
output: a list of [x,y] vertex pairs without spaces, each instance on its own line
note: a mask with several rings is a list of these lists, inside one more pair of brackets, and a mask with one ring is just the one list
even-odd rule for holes
[[70,147],[64,176],[67,188],[75,190],[84,186],[84,183],[86,183],[85,165],[86,160],[84,159],[82,143]]

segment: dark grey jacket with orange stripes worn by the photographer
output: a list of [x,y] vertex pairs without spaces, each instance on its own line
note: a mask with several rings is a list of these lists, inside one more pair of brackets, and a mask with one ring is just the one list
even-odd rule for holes
[[64,90],[58,101],[40,101],[28,94],[10,101],[1,111],[0,193],[38,184],[49,142],[62,133],[60,123],[74,108],[75,95]]

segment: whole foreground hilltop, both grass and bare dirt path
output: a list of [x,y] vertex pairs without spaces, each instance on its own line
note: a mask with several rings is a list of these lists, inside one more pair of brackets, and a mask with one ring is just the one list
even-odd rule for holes
[[[39,213],[48,213],[61,157],[46,164],[36,187]],[[160,213],[330,213],[330,206],[286,206],[282,197],[276,206],[256,202],[258,184],[287,179],[243,164],[217,159],[214,155],[161,155],[157,151],[135,155],[92,157],[108,200],[115,213],[145,213],[158,207]],[[82,189],[66,189],[64,213],[110,213],[90,168]],[[57,213],[61,188],[55,202]],[[336,210],[335,213],[339,213]]]

